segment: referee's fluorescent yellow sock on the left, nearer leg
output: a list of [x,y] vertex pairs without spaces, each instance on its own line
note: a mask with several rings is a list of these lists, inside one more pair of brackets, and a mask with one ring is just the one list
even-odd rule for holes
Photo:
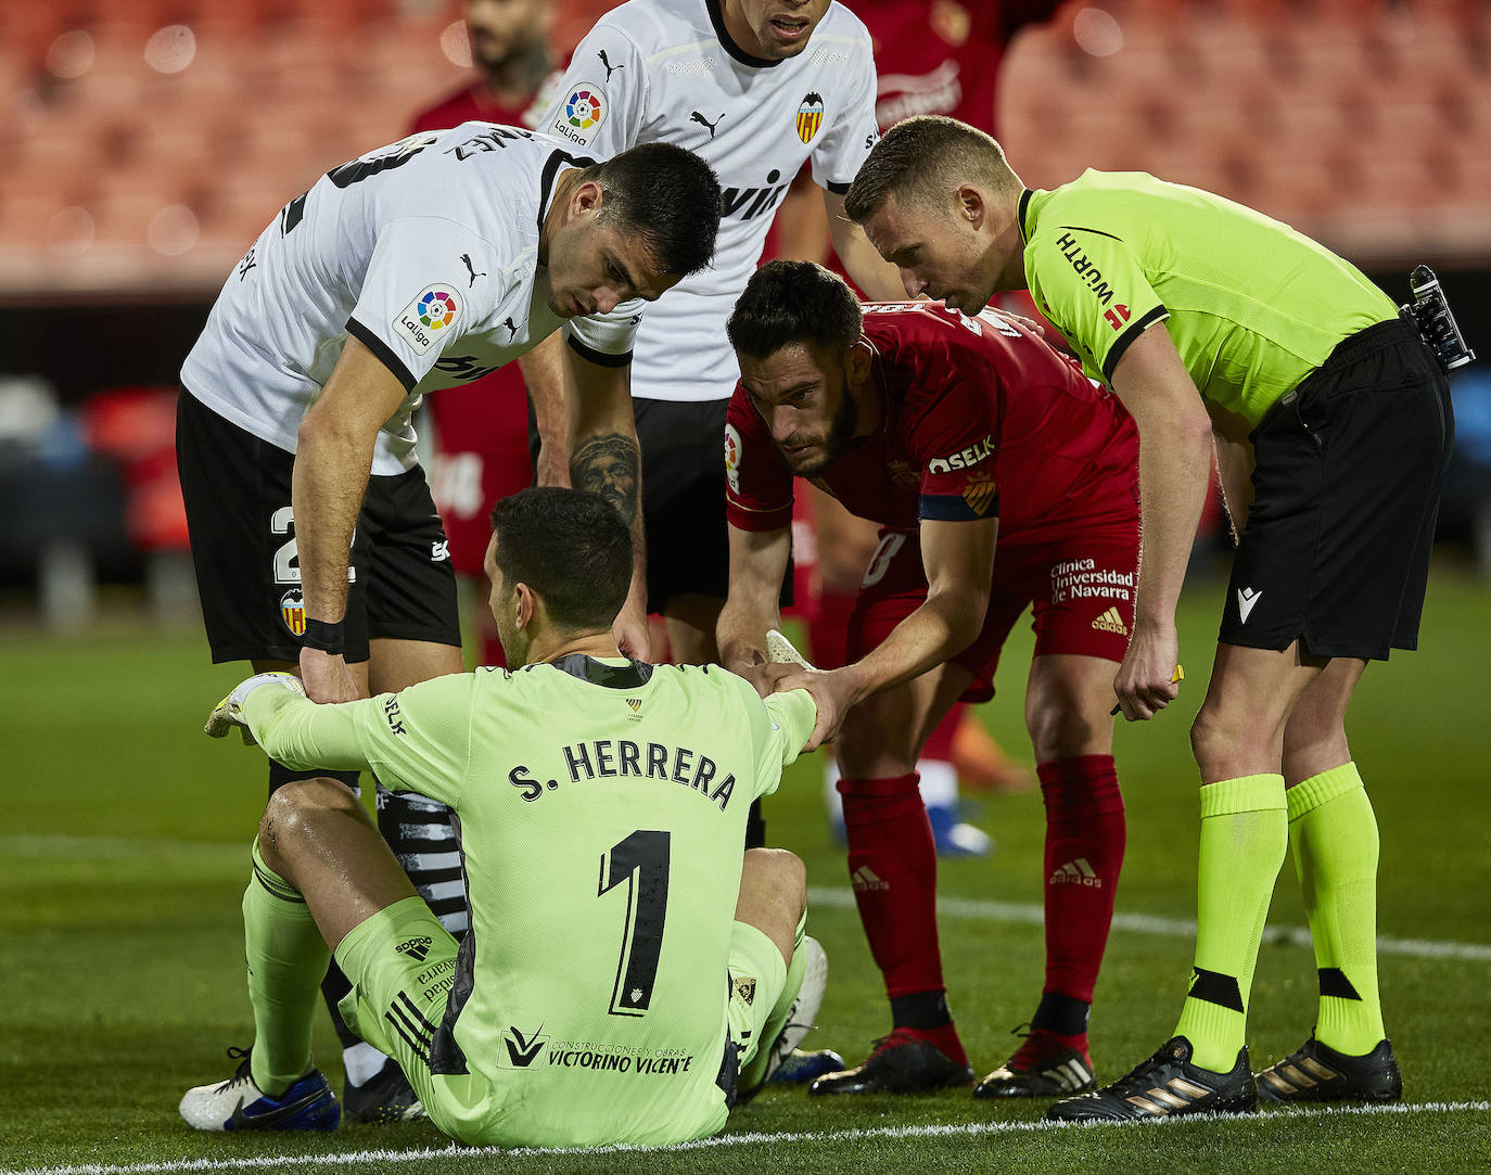
[[1248,993],[1263,920],[1288,851],[1282,775],[1243,775],[1202,787],[1196,968],[1175,1026],[1191,1063],[1229,1072],[1248,1024]]

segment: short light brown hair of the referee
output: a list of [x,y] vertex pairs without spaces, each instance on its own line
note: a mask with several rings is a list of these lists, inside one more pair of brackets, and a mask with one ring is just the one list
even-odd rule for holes
[[886,131],[859,166],[844,215],[863,224],[892,195],[904,204],[936,201],[969,179],[993,188],[1018,183],[992,136],[947,115],[917,115]]

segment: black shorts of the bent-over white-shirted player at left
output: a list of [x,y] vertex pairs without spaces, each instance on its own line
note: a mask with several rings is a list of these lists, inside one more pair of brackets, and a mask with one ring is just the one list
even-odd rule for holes
[[[304,632],[291,514],[294,453],[176,401],[176,465],[213,662],[298,661]],[[370,477],[352,543],[346,658],[368,638],[461,646],[456,580],[423,470]]]

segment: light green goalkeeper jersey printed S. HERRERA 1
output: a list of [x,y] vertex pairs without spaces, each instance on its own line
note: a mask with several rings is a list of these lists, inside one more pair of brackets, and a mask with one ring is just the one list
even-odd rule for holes
[[[677,1141],[726,1118],[726,960],[746,813],[813,731],[719,668],[568,656],[340,705],[256,689],[295,768],[371,768],[461,822],[471,930],[432,1071],[498,1091],[558,1145]],[[534,1129],[526,1130],[532,1136]]]

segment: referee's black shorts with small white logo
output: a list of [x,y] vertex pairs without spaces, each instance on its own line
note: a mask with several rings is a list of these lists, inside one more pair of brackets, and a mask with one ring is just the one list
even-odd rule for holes
[[1416,328],[1343,340],[1249,435],[1254,498],[1223,607],[1223,644],[1385,661],[1418,647],[1449,383]]

